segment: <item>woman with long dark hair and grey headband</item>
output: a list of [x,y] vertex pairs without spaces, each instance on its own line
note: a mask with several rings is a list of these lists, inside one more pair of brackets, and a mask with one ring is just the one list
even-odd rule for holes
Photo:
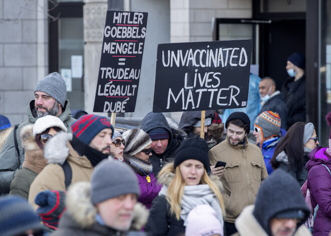
[[308,154],[318,145],[312,123],[296,122],[277,145],[270,160],[273,169],[281,168],[290,173],[302,186],[307,180],[305,165]]

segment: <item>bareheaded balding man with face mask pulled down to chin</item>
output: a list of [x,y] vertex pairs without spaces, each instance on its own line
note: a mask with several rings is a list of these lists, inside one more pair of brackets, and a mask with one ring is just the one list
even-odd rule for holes
[[261,110],[278,113],[281,119],[281,127],[287,129],[287,106],[282,98],[282,94],[276,91],[276,83],[271,77],[264,77],[259,83],[259,93],[261,96]]

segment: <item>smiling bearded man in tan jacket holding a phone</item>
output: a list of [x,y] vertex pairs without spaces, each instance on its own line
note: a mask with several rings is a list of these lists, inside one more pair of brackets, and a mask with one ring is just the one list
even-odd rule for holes
[[268,172],[260,148],[247,140],[250,131],[247,114],[230,114],[225,127],[226,139],[210,149],[208,156],[211,165],[217,161],[226,162],[225,169],[211,169],[214,175],[221,176],[226,205],[224,223],[227,235],[231,235],[237,232],[236,218],[246,206],[254,204],[261,181],[268,176]]

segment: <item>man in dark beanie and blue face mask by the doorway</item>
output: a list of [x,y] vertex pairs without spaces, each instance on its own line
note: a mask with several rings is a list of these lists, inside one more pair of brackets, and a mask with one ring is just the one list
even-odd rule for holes
[[306,119],[305,57],[293,53],[287,58],[286,70],[290,76],[282,87],[282,94],[287,106],[287,127]]

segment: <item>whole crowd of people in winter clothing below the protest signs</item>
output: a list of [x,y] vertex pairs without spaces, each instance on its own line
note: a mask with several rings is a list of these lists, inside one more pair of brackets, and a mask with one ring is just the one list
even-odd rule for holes
[[149,112],[128,130],[71,111],[65,81],[49,74],[28,121],[0,126],[0,236],[328,236],[331,131],[318,146],[293,98],[293,88],[304,94],[304,64],[288,58],[283,95],[251,75],[246,110],[204,121],[187,111],[178,126]]

